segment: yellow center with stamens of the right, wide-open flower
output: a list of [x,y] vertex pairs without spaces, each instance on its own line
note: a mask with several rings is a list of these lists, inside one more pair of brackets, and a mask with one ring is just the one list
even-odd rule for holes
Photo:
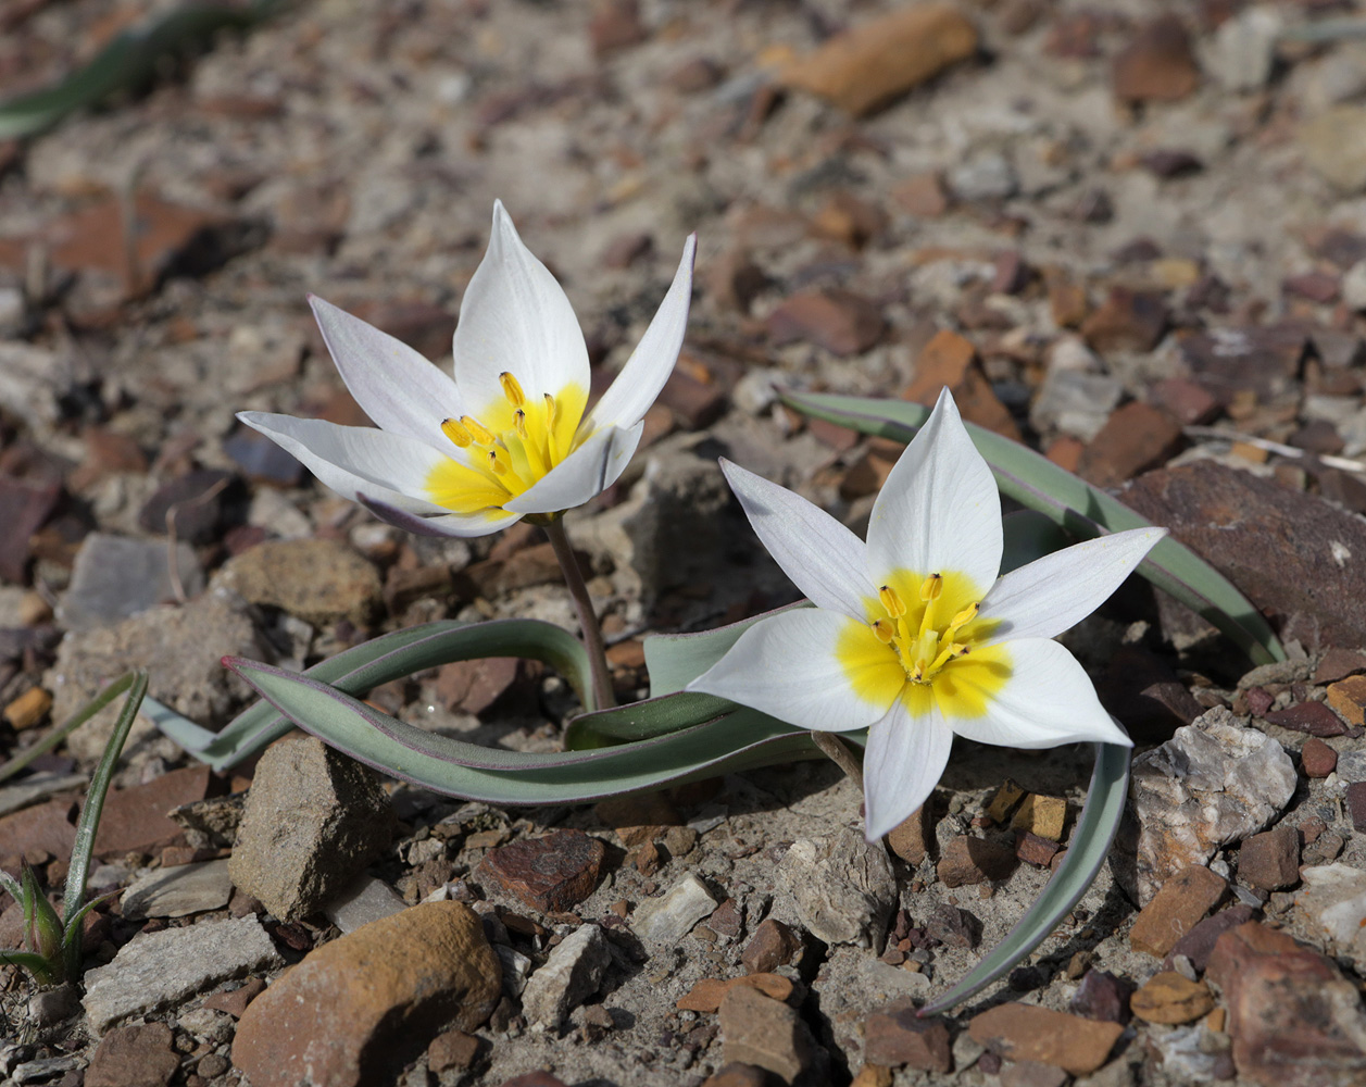
[[956,572],[897,571],[865,601],[867,624],[850,620],[836,654],[859,698],[914,714],[937,705],[945,717],[981,717],[1009,679],[1009,654],[984,646],[996,627],[978,619],[982,593]]

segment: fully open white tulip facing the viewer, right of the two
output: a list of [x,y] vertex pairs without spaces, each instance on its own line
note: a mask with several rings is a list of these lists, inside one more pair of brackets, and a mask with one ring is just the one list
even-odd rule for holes
[[816,608],[754,624],[688,690],[803,729],[867,728],[869,841],[925,803],[955,733],[1019,748],[1131,744],[1052,638],[1098,608],[1165,528],[1115,533],[997,578],[1000,496],[947,389],[888,475],[867,544],[790,490],[723,467]]

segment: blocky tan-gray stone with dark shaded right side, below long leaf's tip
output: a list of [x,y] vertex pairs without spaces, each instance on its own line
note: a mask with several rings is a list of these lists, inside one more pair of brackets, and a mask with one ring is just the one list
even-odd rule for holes
[[322,908],[389,845],[393,807],[373,770],[314,736],[257,763],[232,849],[232,882],[277,918]]

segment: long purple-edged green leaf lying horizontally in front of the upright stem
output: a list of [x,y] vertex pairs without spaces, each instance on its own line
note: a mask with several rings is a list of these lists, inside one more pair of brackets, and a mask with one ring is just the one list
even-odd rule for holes
[[816,757],[806,732],[747,709],[593,751],[505,751],[425,732],[310,677],[250,661],[231,666],[299,728],[351,758],[434,792],[486,803],[578,803]]

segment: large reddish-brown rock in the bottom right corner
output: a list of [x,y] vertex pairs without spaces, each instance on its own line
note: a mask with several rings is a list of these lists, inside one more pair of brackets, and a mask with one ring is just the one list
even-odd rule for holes
[[1325,956],[1249,922],[1220,937],[1209,979],[1224,993],[1240,1075],[1276,1087],[1366,1077],[1361,997]]

